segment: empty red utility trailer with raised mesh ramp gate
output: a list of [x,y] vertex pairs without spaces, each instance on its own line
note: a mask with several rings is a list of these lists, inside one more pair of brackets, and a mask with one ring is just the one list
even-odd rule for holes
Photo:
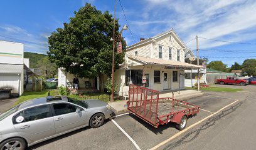
[[200,106],[173,98],[159,98],[159,91],[130,84],[127,109],[155,128],[169,122],[186,128],[188,117],[199,113]]

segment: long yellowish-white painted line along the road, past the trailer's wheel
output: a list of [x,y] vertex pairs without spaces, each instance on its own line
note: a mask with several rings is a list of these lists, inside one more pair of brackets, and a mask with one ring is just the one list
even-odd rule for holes
[[[236,99],[236,100],[239,101],[238,99]],[[166,139],[165,141],[163,141],[163,142],[157,144],[156,146],[154,146],[154,148],[151,148],[151,150],[160,148],[160,147],[163,146],[164,144],[166,144],[166,143],[168,143],[169,141],[173,140],[174,138],[180,136],[181,134],[185,133],[186,131],[188,131],[189,129],[193,128],[194,126],[196,126],[196,125],[202,123],[203,121],[205,121],[205,120],[208,119],[208,118],[211,118],[211,116],[220,113],[220,111],[222,111],[223,109],[227,108],[228,106],[231,106],[232,104],[237,103],[237,101],[234,101],[233,103],[228,104],[227,106],[221,108],[220,110],[216,111],[215,113],[210,114],[210,115],[207,116],[206,118],[201,119],[200,121],[198,121],[198,122],[195,123],[195,124],[192,124],[192,125],[189,126],[188,128],[185,128],[183,131],[179,131],[179,133],[174,134],[174,136],[171,136],[169,139]]]

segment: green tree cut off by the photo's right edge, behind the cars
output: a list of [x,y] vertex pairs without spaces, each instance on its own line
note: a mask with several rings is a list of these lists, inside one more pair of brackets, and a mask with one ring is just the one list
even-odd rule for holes
[[246,59],[243,61],[242,68],[248,76],[256,76],[256,59]]

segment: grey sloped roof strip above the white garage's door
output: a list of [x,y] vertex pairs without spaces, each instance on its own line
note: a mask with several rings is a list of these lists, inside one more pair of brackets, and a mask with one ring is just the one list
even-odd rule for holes
[[23,64],[0,64],[0,74],[20,74]]

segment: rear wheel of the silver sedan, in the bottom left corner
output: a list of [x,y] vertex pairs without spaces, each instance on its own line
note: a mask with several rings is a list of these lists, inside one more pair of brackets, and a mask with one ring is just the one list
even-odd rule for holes
[[24,150],[26,149],[26,141],[21,138],[11,138],[7,139],[3,143],[0,144],[0,149],[1,150],[6,150],[6,149],[20,149]]

